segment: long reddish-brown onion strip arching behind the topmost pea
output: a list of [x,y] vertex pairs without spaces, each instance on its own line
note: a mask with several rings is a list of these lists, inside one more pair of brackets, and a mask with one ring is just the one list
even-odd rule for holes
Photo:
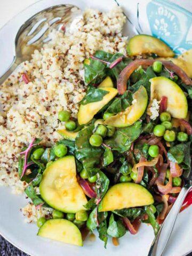
[[[118,79],[117,79],[117,90],[119,94],[123,94],[126,91],[127,87],[127,81],[130,78],[133,71],[139,66],[151,66],[156,60],[149,60],[149,59],[140,59],[140,60],[134,60],[129,65],[127,65],[120,73]],[[166,68],[171,69],[174,71],[175,74],[177,74],[183,83],[187,85],[192,85],[191,79],[188,77],[188,75],[183,71],[181,68],[179,68],[177,65],[173,64],[170,61],[161,61],[163,65]]]

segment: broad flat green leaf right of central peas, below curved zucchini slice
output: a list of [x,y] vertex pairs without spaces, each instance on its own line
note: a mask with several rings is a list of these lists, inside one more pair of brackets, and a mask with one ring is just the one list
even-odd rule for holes
[[131,143],[139,137],[141,129],[141,121],[135,122],[126,128],[119,128],[115,131],[113,137],[105,141],[105,144],[113,150],[119,151],[119,153],[124,153],[130,149]]

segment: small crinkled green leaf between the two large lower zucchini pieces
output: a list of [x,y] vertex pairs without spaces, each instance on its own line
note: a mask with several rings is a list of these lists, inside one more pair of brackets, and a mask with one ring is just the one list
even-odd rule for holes
[[107,176],[99,171],[97,173],[97,181],[96,181],[96,193],[97,193],[97,198],[102,199],[102,197],[106,194],[108,187],[109,187],[109,179]]

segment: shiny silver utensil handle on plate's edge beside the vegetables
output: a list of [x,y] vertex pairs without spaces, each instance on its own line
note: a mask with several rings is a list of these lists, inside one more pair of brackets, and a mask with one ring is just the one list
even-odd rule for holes
[[171,233],[172,233],[175,221],[177,219],[179,210],[181,208],[181,205],[190,189],[191,189],[191,187],[188,189],[183,187],[181,189],[177,200],[173,204],[171,211],[165,218],[161,228],[158,231],[158,234],[156,235],[153,243],[151,244],[148,256],[162,256],[163,255],[163,253],[165,251],[165,247],[166,247],[167,243],[169,242],[169,238],[171,236]]

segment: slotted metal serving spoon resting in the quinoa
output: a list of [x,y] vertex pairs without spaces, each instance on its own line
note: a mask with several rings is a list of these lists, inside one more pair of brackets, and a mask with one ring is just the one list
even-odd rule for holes
[[66,29],[75,28],[82,18],[83,14],[77,6],[62,4],[44,9],[28,19],[15,36],[14,59],[11,66],[0,77],[0,84],[21,62],[29,60],[35,49],[41,49],[43,43],[51,40],[49,35],[52,28],[64,33]]

